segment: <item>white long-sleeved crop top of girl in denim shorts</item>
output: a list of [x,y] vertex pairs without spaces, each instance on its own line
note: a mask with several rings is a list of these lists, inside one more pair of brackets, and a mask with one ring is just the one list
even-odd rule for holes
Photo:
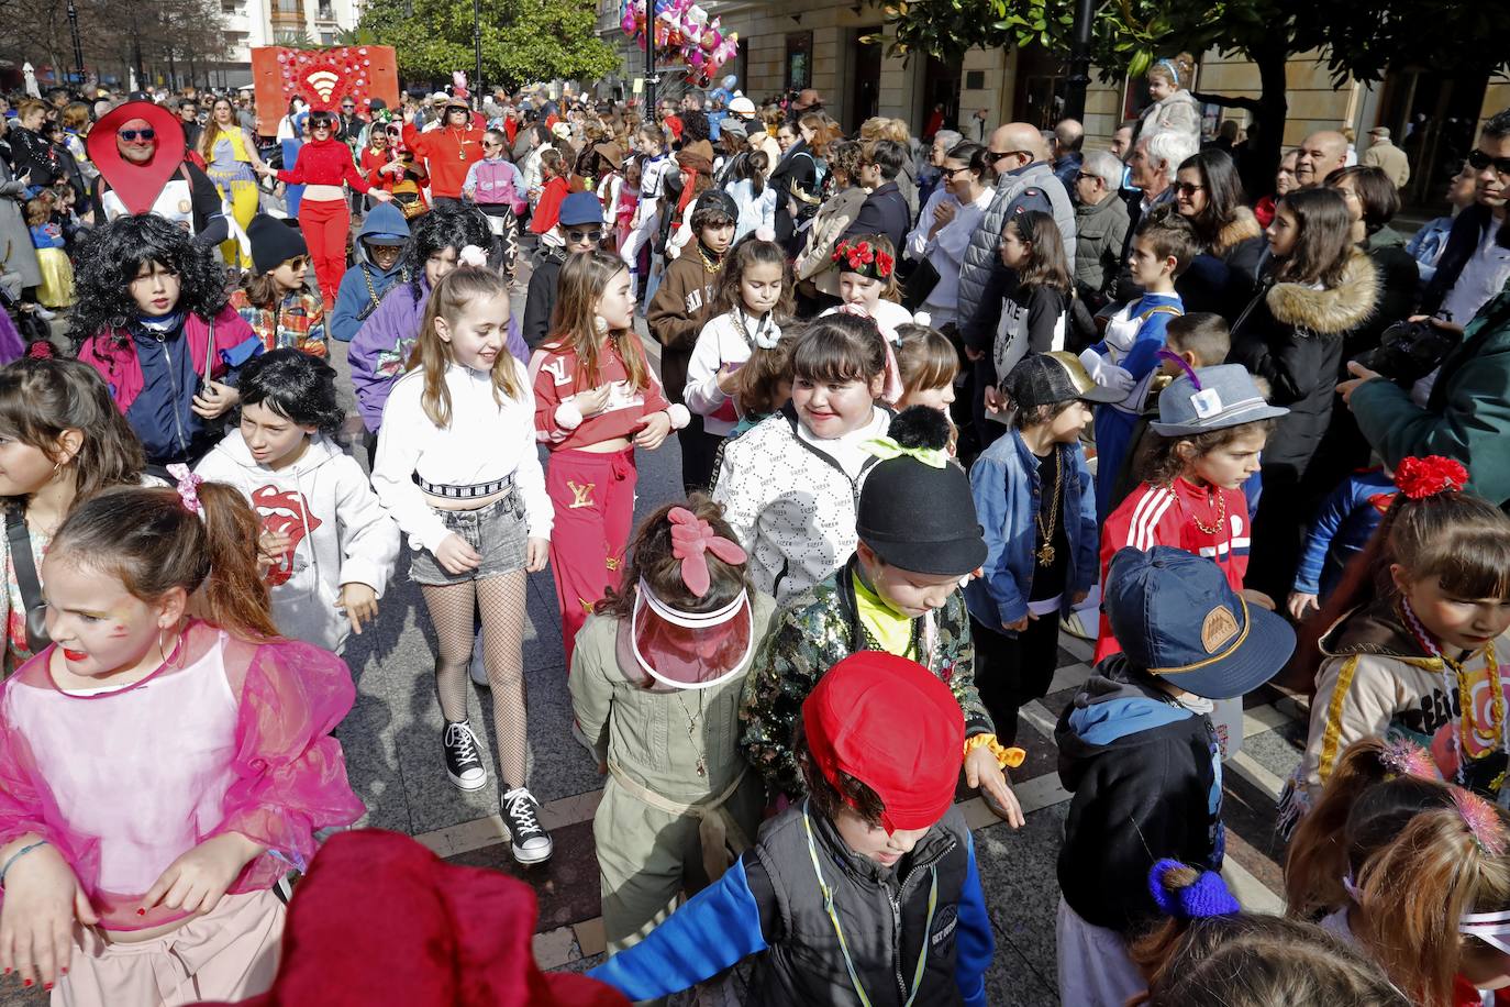
[[[507,352],[507,350],[500,350]],[[516,397],[494,397],[492,377],[461,364],[445,368],[451,393],[451,421],[438,427],[424,414],[424,368],[393,385],[384,406],[378,438],[373,489],[405,534],[411,548],[435,551],[450,531],[430,507],[430,497],[415,483],[473,486],[513,476],[524,498],[532,539],[548,539],[556,512],[545,494],[545,470],[535,441],[535,391],[524,367],[510,358]]]

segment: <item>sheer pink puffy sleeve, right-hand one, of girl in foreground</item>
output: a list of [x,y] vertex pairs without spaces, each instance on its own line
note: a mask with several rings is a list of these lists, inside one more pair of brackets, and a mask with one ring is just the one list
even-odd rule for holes
[[365,806],[346,779],[331,731],[356,698],[346,661],[308,643],[278,640],[252,651],[236,731],[236,781],[213,835],[239,832],[267,847],[233,891],[267,888],[314,856],[314,833],[349,826]]

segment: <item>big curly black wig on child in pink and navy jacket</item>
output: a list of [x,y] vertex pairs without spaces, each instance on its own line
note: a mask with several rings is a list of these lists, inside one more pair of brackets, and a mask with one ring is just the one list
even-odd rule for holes
[[162,263],[178,273],[180,311],[213,319],[228,300],[225,267],[214,251],[196,248],[187,231],[151,213],[116,217],[85,231],[77,261],[79,300],[68,329],[76,349],[136,319],[140,311],[131,297],[131,281],[146,263]]

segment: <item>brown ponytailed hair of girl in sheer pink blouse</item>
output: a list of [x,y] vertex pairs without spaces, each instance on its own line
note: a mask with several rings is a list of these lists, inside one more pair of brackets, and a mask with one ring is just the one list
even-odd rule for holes
[[183,494],[122,486],[77,506],[50,551],[118,578],[143,601],[181,587],[208,622],[261,642],[278,637],[278,627],[257,568],[260,530],[242,494],[223,483],[198,482]]

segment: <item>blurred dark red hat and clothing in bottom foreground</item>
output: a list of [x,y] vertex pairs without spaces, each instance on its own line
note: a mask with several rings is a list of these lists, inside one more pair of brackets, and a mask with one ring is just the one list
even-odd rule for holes
[[299,882],[272,989],[239,1007],[628,1007],[602,983],[542,972],[535,919],[524,882],[396,832],[344,832]]

